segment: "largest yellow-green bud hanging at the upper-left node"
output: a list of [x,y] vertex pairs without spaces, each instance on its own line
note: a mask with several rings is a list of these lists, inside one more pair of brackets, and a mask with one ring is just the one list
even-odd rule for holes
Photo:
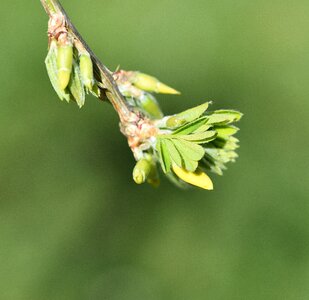
[[73,66],[73,46],[71,44],[58,46],[57,68],[59,87],[65,90],[70,82]]

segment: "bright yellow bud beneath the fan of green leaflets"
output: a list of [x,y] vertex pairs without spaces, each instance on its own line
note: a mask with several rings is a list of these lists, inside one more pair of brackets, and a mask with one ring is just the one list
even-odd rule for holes
[[176,166],[175,164],[172,166],[172,169],[174,173],[183,181],[205,190],[213,190],[213,183],[211,179],[201,170],[188,172],[185,169]]

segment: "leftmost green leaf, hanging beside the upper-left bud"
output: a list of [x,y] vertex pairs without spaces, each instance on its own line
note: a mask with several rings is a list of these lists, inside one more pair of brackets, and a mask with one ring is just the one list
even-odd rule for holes
[[57,42],[53,40],[50,44],[48,54],[45,59],[45,65],[49,80],[61,101],[70,102],[70,94],[66,90],[62,90],[59,86],[58,67],[57,67]]

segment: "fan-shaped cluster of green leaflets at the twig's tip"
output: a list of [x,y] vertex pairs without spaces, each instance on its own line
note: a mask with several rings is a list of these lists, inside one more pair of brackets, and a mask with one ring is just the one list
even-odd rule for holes
[[172,116],[163,129],[171,133],[157,137],[156,151],[164,173],[175,164],[189,172],[197,169],[222,174],[225,164],[235,161],[238,140],[232,125],[242,117],[234,110],[206,112],[209,102]]

